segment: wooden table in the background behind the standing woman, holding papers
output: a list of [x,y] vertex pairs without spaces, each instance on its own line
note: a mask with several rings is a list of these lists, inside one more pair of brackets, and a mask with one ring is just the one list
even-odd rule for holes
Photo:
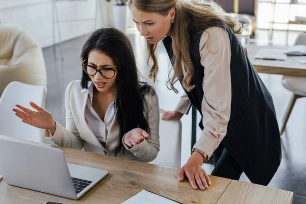
[[281,74],[292,77],[306,77],[306,64],[301,64],[292,59],[292,57],[288,57],[286,61],[254,59],[254,56],[261,48],[286,49],[286,47],[250,45],[248,54],[249,60],[257,72]]

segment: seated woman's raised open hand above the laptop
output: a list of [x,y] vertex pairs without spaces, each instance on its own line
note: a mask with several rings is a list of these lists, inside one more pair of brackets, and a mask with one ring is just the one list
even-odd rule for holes
[[55,133],[56,124],[52,117],[52,114],[43,108],[37,106],[33,102],[30,102],[30,106],[37,111],[24,108],[23,106],[16,105],[19,109],[13,109],[15,115],[22,119],[22,122],[30,124],[32,126],[47,129],[52,135]]

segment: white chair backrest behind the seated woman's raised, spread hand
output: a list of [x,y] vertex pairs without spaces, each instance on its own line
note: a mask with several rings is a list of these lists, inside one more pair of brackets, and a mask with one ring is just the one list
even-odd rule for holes
[[34,110],[29,102],[45,107],[46,87],[11,82],[0,97],[0,135],[43,142],[43,130],[21,122],[12,111],[16,104]]

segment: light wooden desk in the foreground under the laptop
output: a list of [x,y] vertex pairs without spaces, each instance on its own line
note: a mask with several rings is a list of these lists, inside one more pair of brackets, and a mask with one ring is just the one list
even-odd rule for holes
[[[1,135],[0,138],[23,141]],[[40,145],[49,146],[47,144]],[[61,148],[64,151],[68,163],[108,170],[109,175],[77,201],[9,186],[1,180],[0,203],[42,204],[47,200],[64,202],[65,204],[121,203],[142,189],[163,195],[182,203],[222,203],[219,200],[221,198],[226,200],[227,203],[235,203],[235,200],[226,197],[227,195],[232,197],[232,193],[238,195],[238,197],[243,195],[244,203],[253,203],[253,200],[258,201],[258,199],[245,195],[252,195],[256,192],[256,194],[260,195],[262,198],[266,198],[266,200],[282,195],[283,197],[280,197],[282,200],[279,199],[280,201],[277,203],[288,204],[290,203],[288,200],[292,200],[293,196],[292,192],[278,189],[268,191],[267,189],[269,188],[267,187],[260,186],[259,188],[257,185],[253,184],[247,184],[248,187],[244,189],[241,189],[240,187],[236,188],[235,186],[230,185],[233,181],[216,176],[210,176],[212,185],[208,190],[193,190],[187,179],[182,183],[177,182],[178,170],[175,169],[109,156],[96,155],[91,152],[63,147],[55,148]],[[238,184],[240,183],[242,182],[238,182]],[[245,183],[242,184],[245,185]]]

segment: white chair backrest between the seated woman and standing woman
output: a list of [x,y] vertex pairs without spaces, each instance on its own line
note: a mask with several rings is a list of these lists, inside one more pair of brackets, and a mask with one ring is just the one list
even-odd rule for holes
[[181,168],[182,123],[160,120],[160,151],[157,158],[150,162],[174,169]]

